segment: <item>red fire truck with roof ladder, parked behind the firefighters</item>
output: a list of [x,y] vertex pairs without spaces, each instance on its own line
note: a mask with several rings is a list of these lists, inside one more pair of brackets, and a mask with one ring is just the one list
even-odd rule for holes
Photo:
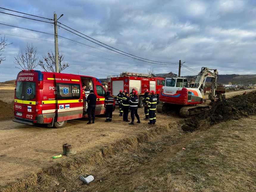
[[157,98],[160,94],[162,86],[165,84],[165,79],[162,77],[152,77],[149,74],[139,74],[133,72],[122,72],[120,75],[107,76],[108,91],[113,97],[116,97],[119,90],[126,90],[128,93],[132,92],[132,89],[138,91],[139,104],[138,107],[143,107],[144,89],[149,91],[154,90],[157,94]]

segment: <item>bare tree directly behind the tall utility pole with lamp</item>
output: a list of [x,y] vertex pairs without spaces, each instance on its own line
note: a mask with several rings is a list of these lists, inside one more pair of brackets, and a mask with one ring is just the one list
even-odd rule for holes
[[[45,63],[43,62],[45,61]],[[48,51],[47,55],[43,55],[43,59],[39,60],[39,65],[47,72],[55,72],[55,54],[52,51]],[[59,54],[59,71],[63,71],[68,67],[68,62],[64,62],[64,54]]]

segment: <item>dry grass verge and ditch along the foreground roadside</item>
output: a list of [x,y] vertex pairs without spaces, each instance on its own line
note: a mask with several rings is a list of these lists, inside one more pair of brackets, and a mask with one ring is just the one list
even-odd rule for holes
[[[253,121],[255,116],[193,133],[178,125],[155,127],[0,191],[256,191]],[[95,180],[85,185],[80,174]]]

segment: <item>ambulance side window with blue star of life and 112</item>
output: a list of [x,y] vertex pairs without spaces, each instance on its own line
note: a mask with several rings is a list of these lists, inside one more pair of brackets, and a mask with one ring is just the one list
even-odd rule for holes
[[79,84],[57,83],[58,99],[79,99],[80,93]]

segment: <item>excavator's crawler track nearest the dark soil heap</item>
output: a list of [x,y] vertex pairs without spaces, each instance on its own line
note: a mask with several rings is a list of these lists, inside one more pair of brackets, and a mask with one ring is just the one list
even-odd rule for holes
[[191,115],[203,113],[204,111],[209,109],[210,107],[207,105],[185,106],[179,110],[179,115],[187,118],[187,117],[190,117]]

